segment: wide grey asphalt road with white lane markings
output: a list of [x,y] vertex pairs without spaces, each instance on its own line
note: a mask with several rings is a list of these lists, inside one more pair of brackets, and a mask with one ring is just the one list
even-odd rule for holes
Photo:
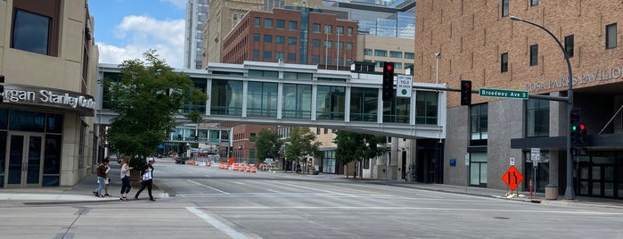
[[0,207],[2,235],[623,238],[623,209],[618,207],[517,202],[323,175],[253,174],[172,161],[159,161],[155,167],[156,183],[168,198]]

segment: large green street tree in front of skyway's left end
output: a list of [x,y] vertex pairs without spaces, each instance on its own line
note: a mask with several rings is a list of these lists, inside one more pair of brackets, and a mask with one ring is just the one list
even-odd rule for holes
[[[104,79],[110,91],[111,110],[118,116],[111,119],[106,139],[112,147],[126,155],[145,158],[175,128],[175,116],[184,103],[205,103],[207,96],[193,86],[184,73],[174,72],[155,50],[146,51],[142,60],[127,60],[119,65],[119,81]],[[185,115],[193,122],[201,117],[197,111]]]

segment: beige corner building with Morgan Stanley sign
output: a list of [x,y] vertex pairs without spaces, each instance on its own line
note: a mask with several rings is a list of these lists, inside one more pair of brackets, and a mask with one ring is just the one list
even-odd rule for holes
[[72,186],[102,149],[85,0],[0,4],[0,187]]

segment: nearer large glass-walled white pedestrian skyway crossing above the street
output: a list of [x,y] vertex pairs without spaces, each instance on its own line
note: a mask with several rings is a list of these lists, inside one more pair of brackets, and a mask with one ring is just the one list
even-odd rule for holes
[[[430,89],[446,85],[413,83],[410,97],[383,102],[382,75],[375,72],[283,62],[209,63],[205,70],[176,71],[190,76],[208,95],[206,103],[181,110],[205,112],[204,122],[332,128],[401,138],[446,136],[446,91]],[[99,64],[98,79],[103,78],[119,79],[119,66]],[[115,113],[103,95],[99,85],[95,122],[105,125]]]

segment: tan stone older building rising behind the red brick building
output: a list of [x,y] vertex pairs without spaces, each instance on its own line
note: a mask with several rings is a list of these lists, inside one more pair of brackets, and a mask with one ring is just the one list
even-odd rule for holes
[[270,12],[274,8],[285,6],[314,6],[322,4],[322,0],[216,0],[211,1],[208,24],[203,29],[203,67],[207,62],[221,62],[223,39],[249,11]]

